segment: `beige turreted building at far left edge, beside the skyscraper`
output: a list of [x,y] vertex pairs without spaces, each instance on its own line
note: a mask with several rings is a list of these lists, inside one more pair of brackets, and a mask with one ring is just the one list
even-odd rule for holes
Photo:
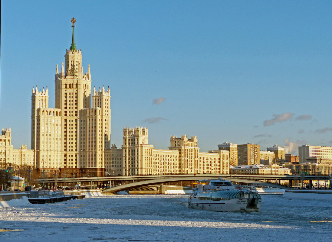
[[0,163],[33,167],[34,151],[28,150],[26,145],[22,145],[20,149],[14,149],[11,145],[11,132],[11,128],[2,129],[0,136]]

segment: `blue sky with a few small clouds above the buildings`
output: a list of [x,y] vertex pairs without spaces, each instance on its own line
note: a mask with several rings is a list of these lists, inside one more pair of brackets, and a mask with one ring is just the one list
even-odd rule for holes
[[[111,90],[111,143],[198,136],[261,150],[332,146],[332,1],[1,1],[0,127],[31,147],[31,91],[75,43],[92,86]],[[153,102],[155,100],[155,103]]]

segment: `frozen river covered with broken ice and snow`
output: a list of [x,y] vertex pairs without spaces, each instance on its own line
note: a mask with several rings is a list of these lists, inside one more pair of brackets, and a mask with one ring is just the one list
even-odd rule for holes
[[262,195],[262,212],[239,213],[189,209],[187,198],[114,195],[0,208],[0,241],[332,241],[328,201]]

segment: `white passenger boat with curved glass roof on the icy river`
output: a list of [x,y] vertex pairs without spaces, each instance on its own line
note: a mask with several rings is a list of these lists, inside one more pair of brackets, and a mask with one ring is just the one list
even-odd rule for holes
[[220,212],[260,212],[261,196],[235,189],[229,180],[199,180],[188,198],[188,208]]

